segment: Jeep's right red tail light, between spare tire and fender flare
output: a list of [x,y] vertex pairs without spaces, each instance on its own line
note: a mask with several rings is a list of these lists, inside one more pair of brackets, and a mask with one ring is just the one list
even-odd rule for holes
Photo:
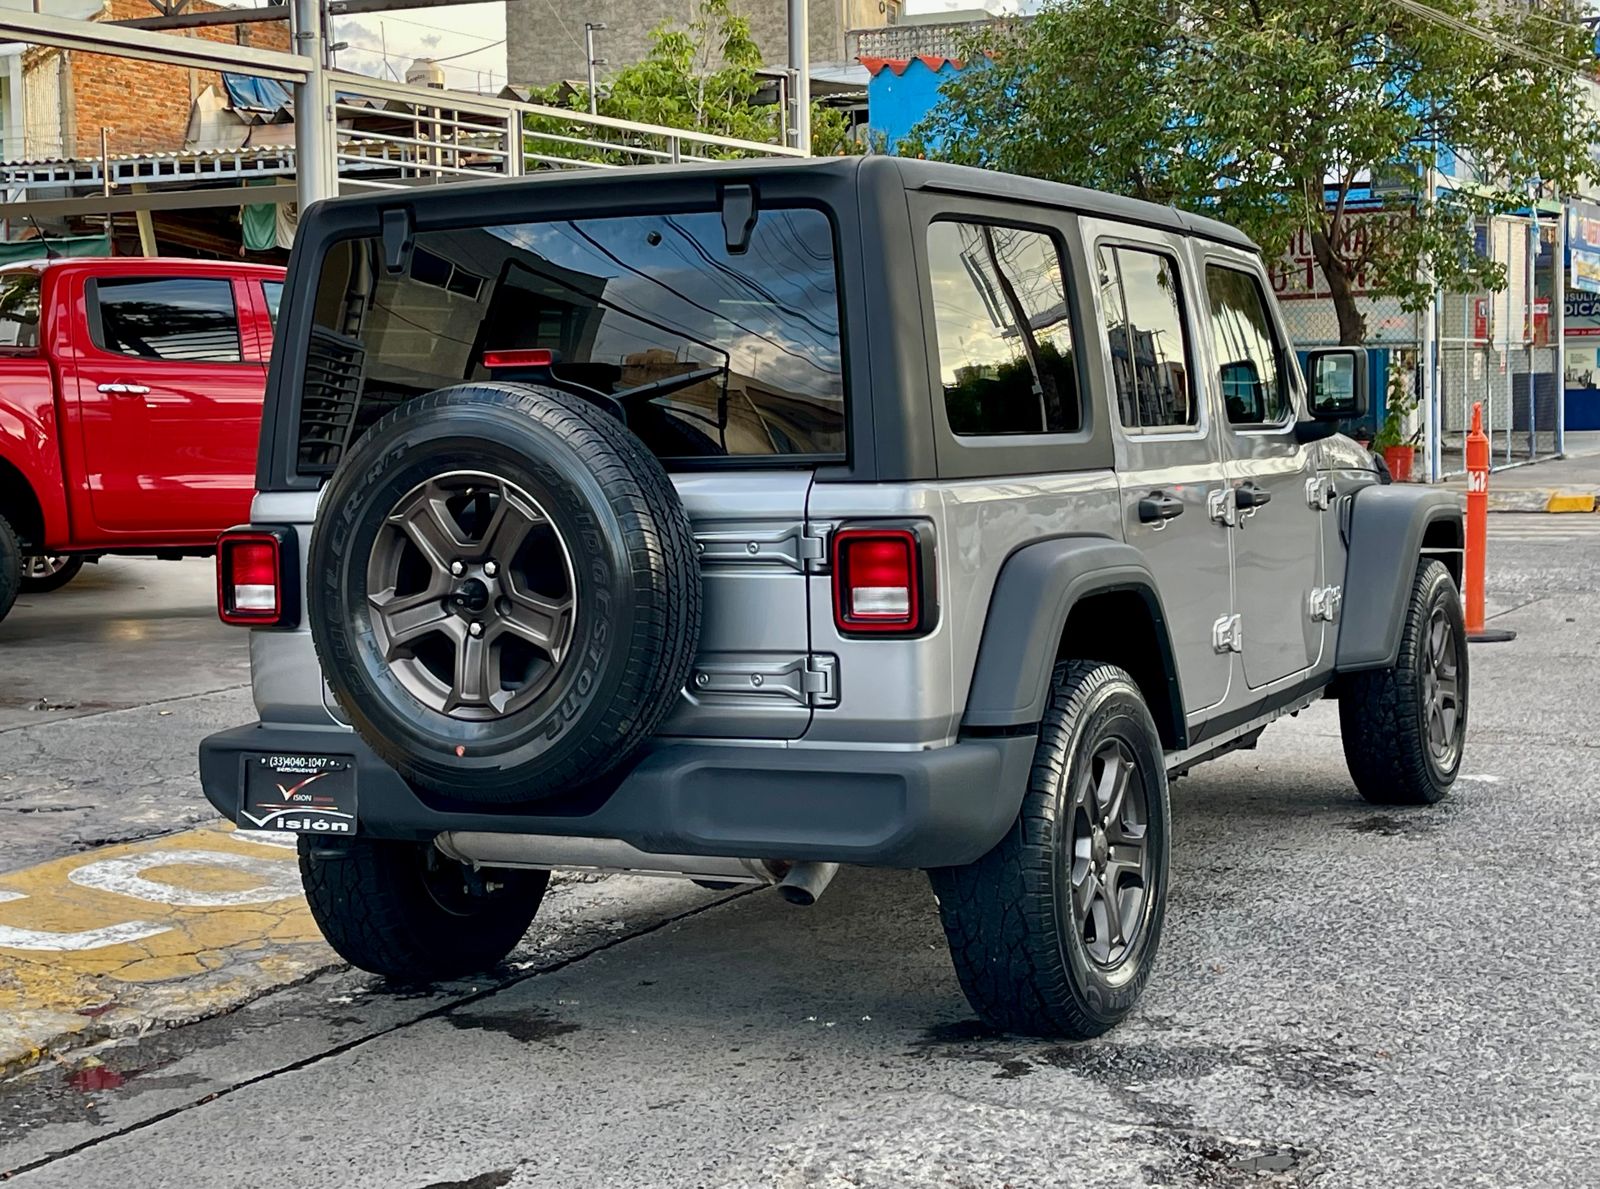
[[922,635],[933,627],[931,534],[914,526],[834,533],[834,623],[845,635]]

